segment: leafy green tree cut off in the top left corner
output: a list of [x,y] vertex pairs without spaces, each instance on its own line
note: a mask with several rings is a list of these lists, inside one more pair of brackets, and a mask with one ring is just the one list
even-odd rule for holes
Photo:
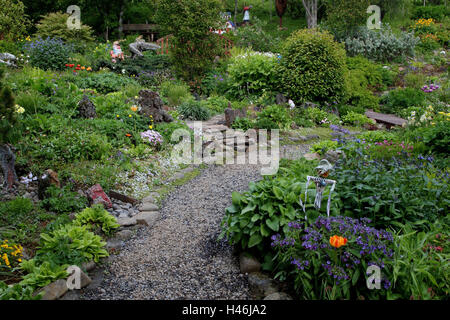
[[29,24],[21,1],[0,0],[0,40],[17,40]]

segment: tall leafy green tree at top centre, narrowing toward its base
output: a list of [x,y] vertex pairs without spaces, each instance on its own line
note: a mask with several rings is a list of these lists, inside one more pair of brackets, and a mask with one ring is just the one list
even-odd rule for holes
[[176,71],[185,79],[202,74],[223,53],[217,34],[210,28],[223,25],[219,0],[160,0],[155,20],[172,34],[171,56]]

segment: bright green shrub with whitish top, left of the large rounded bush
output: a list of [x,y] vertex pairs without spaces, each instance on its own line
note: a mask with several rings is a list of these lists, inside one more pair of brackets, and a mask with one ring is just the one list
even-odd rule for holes
[[235,98],[275,91],[278,58],[272,53],[246,51],[231,58],[228,65],[229,95]]

